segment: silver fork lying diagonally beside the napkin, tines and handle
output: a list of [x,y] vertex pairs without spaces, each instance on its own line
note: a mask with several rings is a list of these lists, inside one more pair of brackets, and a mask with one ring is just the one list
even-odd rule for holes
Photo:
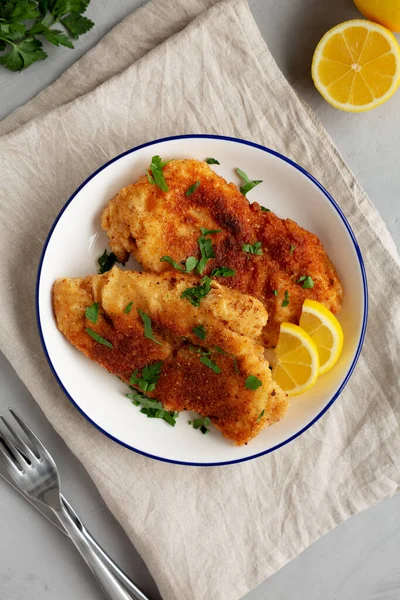
[[[58,470],[53,457],[28,425],[11,408],[10,413],[29,442],[26,443],[1,416],[12,437],[0,433],[0,442],[2,442],[0,458],[14,484],[28,497],[53,510],[110,600],[132,600],[132,598],[148,600],[139,589],[137,589],[138,593],[131,596],[92,548],[62,501]],[[81,522],[79,521],[79,523]]]

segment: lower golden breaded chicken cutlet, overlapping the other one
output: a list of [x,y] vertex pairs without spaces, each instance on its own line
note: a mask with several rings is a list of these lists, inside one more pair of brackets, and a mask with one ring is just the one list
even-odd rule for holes
[[[126,382],[134,371],[162,361],[155,389],[146,395],[165,410],[207,416],[226,438],[245,444],[279,421],[288,406],[256,341],[267,313],[255,298],[216,281],[195,307],[181,295],[197,283],[179,273],[118,268],[59,279],[53,286],[57,326],[71,344]],[[93,303],[99,303],[96,323],[86,316]],[[145,336],[143,315],[153,339]],[[246,386],[251,375],[262,383],[257,389]]]

